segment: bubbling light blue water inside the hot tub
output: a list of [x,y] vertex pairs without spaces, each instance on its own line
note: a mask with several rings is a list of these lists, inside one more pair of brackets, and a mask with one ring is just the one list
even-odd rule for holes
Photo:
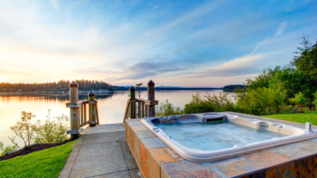
[[162,129],[166,135],[175,138],[178,143],[189,148],[202,150],[219,150],[234,145],[245,146],[249,143],[288,136],[232,122],[171,123],[155,126]]

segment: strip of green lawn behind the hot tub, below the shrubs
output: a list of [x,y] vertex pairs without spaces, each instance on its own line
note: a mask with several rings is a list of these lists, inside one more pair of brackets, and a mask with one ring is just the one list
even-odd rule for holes
[[264,117],[298,122],[303,124],[305,124],[305,122],[310,122],[312,123],[312,125],[317,125],[317,114],[278,114]]

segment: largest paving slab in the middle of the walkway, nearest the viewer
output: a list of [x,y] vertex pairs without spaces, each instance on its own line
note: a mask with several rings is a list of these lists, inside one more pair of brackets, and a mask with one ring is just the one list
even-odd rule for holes
[[81,146],[70,178],[84,178],[128,170],[119,142]]

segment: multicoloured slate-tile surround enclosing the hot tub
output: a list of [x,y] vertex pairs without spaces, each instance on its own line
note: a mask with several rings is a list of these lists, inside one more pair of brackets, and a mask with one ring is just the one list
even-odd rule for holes
[[[305,128],[301,123],[252,117],[251,115],[244,117]],[[315,168],[317,165],[317,138],[223,160],[198,163],[179,156],[139,121],[140,119],[126,120],[125,129],[126,142],[143,178],[317,177]],[[313,126],[313,129],[316,127]]]

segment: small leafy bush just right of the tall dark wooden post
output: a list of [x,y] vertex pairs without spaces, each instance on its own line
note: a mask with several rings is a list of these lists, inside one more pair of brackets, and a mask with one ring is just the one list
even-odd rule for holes
[[159,107],[155,108],[155,116],[171,116],[184,114],[184,111],[180,107],[175,107],[168,99],[161,103]]

